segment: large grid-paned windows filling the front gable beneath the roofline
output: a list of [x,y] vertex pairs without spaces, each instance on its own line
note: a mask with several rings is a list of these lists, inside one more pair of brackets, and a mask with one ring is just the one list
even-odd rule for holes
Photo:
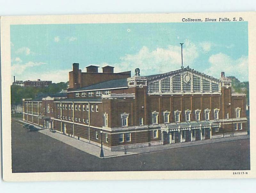
[[[203,92],[210,92],[210,81],[202,79],[203,83]],[[159,92],[159,81],[153,82],[149,84],[149,92]],[[170,92],[170,78],[164,79],[161,81],[161,92]],[[191,91],[191,82],[182,81],[182,88],[184,92]],[[172,77],[172,91],[180,92],[181,91],[181,76],[173,76]],[[200,92],[201,91],[201,78],[197,76],[193,76],[193,91]],[[212,82],[212,92],[219,92],[219,84]]]

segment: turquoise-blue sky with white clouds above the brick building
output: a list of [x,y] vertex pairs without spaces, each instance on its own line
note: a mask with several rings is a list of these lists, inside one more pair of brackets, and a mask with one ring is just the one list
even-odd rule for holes
[[185,67],[248,81],[247,22],[12,25],[12,76],[68,81],[74,62],[84,72],[89,65],[169,72],[180,68],[180,42]]

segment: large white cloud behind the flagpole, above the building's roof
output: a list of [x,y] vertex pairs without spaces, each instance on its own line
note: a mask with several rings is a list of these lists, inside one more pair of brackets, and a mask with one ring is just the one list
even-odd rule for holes
[[[186,41],[183,46],[183,66],[193,64],[198,55],[196,45]],[[169,72],[177,70],[181,66],[181,48],[180,46],[170,45],[167,48],[149,50],[148,47],[143,46],[136,54],[126,54],[120,57],[120,63],[96,64],[100,67],[106,65],[115,66],[115,72],[132,70],[133,73],[135,68],[140,68],[142,76]]]

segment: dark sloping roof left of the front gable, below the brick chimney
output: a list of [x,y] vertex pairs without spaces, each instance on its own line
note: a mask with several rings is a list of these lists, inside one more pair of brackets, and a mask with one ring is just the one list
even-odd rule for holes
[[97,84],[90,85],[88,87],[83,87],[83,88],[72,90],[72,91],[109,89],[109,88],[119,88],[119,87],[127,87],[127,86],[128,86],[127,78],[124,78],[124,79],[116,79],[116,80],[100,82]]

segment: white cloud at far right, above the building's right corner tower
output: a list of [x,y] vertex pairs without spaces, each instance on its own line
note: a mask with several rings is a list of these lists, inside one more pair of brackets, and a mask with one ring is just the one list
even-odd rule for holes
[[242,56],[232,59],[228,55],[218,53],[210,56],[211,66],[205,73],[215,78],[220,78],[220,72],[224,71],[225,76],[236,76],[240,81],[248,81],[248,57]]

